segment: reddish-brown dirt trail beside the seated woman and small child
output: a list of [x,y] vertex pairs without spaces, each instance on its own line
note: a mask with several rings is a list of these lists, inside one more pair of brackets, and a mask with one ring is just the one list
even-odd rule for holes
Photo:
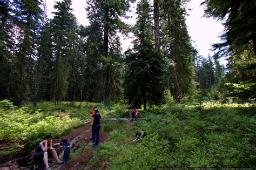
[[[106,132],[100,133],[100,143],[104,142],[108,137],[108,134]],[[67,138],[69,142],[73,143],[73,146],[71,149],[71,154],[75,152],[76,148],[79,148],[82,143],[88,144],[91,139],[91,130],[90,125],[86,124],[82,127],[78,127],[71,131],[71,133],[67,135],[63,135],[59,139],[54,139],[53,144],[59,142],[62,138]],[[25,161],[31,160],[33,152],[35,151],[35,148],[32,148],[30,151],[26,151],[26,158]],[[56,148],[56,151],[59,152],[60,149]],[[53,165],[51,164],[52,169],[80,169],[83,167],[86,169],[91,169],[90,167],[87,167],[87,163],[92,158],[92,152],[93,148],[87,149],[85,153],[80,154],[78,158],[74,158],[68,162],[67,165]],[[0,155],[1,157],[1,155]],[[24,165],[29,164],[29,162],[23,162],[21,164],[17,160],[19,160],[19,154],[17,155],[8,155],[5,156],[6,158],[2,157],[2,160],[8,160],[4,164],[0,164],[0,169],[27,169],[29,168],[28,165],[25,167]],[[55,162],[55,161],[53,161]],[[38,169],[38,168],[37,168]],[[40,169],[40,168],[39,168]]]

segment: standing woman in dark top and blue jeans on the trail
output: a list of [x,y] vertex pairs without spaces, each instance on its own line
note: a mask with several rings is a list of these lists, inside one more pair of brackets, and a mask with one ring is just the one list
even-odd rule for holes
[[[96,147],[99,144],[99,130],[100,130],[100,123],[99,120],[101,118],[98,108],[94,109],[95,114],[92,114],[91,118],[91,128],[92,128],[92,142],[93,142],[93,147]],[[95,139],[96,135],[96,139]]]

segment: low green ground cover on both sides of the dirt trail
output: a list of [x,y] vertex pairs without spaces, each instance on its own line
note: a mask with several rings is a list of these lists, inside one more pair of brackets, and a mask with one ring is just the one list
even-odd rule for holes
[[[127,105],[44,102],[37,107],[0,107],[0,140],[24,140],[34,145],[45,134],[69,133],[90,118],[92,105],[102,116],[129,117]],[[110,169],[154,169],[159,167],[256,167],[255,104],[220,104],[216,101],[151,106],[142,111],[143,120],[102,121],[109,139],[99,145],[89,162],[91,167]],[[59,114],[66,116],[60,118]],[[52,126],[54,125],[54,126]],[[147,136],[133,143],[133,134]],[[91,145],[78,148],[73,158]],[[136,161],[134,161],[136,160]]]

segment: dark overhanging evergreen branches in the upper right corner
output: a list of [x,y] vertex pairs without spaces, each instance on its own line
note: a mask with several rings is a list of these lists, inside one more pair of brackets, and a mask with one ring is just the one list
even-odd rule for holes
[[254,0],[206,0],[205,16],[224,21],[225,31],[221,35],[224,43],[215,44],[216,49],[225,53],[234,53],[253,42],[256,55],[256,3]]

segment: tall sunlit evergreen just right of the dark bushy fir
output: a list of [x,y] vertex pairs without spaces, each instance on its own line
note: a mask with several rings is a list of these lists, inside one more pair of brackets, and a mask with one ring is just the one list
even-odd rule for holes
[[[163,48],[166,59],[169,60],[171,73],[170,87],[176,103],[180,102],[181,95],[192,95],[196,86],[193,48],[188,36],[184,3],[186,1],[164,1],[163,9]],[[183,68],[183,69],[178,69]]]

